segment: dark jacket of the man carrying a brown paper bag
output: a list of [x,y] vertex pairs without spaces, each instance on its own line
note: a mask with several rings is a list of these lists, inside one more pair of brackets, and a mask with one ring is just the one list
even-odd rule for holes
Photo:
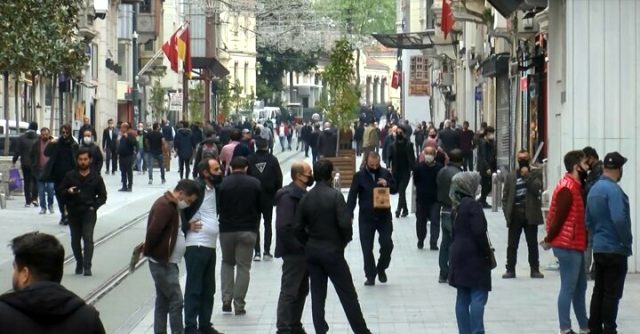
[[373,176],[366,168],[360,169],[353,176],[351,189],[349,189],[349,196],[347,197],[347,212],[351,215],[351,219],[353,219],[353,210],[356,208],[356,200],[358,200],[358,207],[360,208],[358,220],[360,222],[391,223],[391,208],[386,210],[373,208],[373,188],[379,187],[377,184],[379,178],[387,181],[387,187],[391,194],[398,192],[396,181],[385,168],[380,167]]

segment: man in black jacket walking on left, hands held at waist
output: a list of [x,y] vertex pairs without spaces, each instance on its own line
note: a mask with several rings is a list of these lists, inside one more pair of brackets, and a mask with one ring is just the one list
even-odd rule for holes
[[[100,174],[91,169],[91,151],[81,148],[76,155],[77,170],[64,177],[58,191],[64,194],[69,212],[71,249],[76,259],[76,275],[91,276],[93,229],[98,208],[107,202],[107,190]],[[80,246],[80,239],[84,251]]]

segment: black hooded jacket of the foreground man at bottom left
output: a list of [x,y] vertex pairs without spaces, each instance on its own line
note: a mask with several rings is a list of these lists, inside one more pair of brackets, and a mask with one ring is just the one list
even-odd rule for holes
[[54,282],[0,296],[0,333],[101,334],[98,311]]

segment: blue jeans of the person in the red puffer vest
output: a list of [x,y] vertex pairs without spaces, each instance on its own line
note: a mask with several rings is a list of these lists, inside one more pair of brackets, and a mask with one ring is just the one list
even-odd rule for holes
[[588,328],[585,295],[587,275],[584,272],[584,253],[565,248],[553,248],[560,264],[560,293],[558,294],[558,320],[560,330],[571,329],[571,304],[580,329]]

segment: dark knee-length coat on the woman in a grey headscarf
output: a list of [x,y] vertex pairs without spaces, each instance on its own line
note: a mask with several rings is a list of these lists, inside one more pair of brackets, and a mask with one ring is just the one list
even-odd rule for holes
[[491,291],[491,247],[482,205],[465,197],[456,208],[450,250],[449,284]]

